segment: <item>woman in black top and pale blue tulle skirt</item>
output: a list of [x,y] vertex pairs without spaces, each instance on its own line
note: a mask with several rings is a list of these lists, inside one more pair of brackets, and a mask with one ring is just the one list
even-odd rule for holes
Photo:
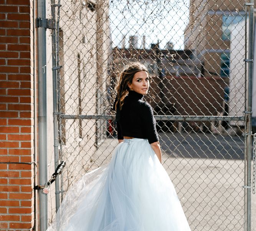
[[129,63],[116,86],[119,144],[109,164],[85,174],[68,190],[47,230],[189,231],[170,178],[161,164],[144,65]]

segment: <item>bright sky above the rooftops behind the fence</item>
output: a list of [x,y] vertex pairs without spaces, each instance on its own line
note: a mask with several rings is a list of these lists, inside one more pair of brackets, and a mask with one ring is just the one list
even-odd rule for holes
[[138,37],[138,48],[145,49],[160,41],[160,49],[167,42],[174,49],[184,48],[184,30],[188,24],[190,0],[110,0],[109,19],[113,47],[122,47],[122,39],[129,46],[129,36]]

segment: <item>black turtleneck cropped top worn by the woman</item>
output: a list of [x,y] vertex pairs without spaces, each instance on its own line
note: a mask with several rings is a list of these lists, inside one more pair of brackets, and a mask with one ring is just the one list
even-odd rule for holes
[[[119,140],[122,140],[124,136],[148,139],[149,143],[159,140],[153,109],[149,103],[142,100],[143,96],[136,91],[129,91],[124,98],[122,110],[120,111],[119,105],[117,106],[116,123]],[[116,102],[117,98],[113,109]]]

